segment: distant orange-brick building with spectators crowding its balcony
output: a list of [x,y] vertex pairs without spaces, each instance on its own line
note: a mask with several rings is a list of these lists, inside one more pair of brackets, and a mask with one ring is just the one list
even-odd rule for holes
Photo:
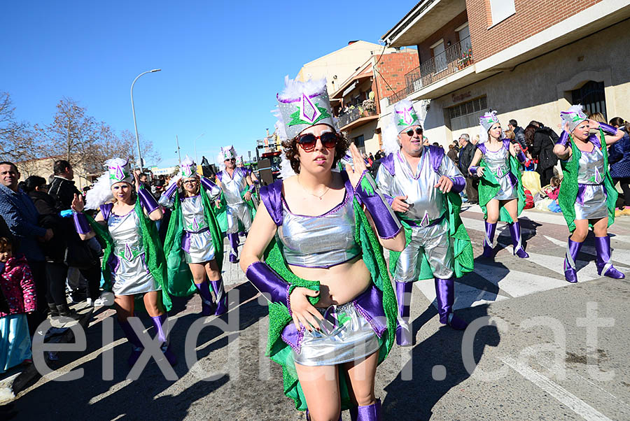
[[376,153],[381,148],[379,102],[405,86],[405,73],[417,62],[415,50],[372,55],[330,94],[339,130],[361,151]]

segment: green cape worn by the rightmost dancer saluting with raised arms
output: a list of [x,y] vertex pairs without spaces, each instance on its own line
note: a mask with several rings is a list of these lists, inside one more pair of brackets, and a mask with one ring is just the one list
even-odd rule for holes
[[[577,162],[582,156],[582,152],[577,149],[573,137],[569,135],[571,141],[571,155],[570,161],[560,161],[562,167],[563,180],[560,185],[560,193],[558,195],[558,204],[562,209],[562,215],[566,220],[569,231],[575,231],[575,201],[577,200]],[[606,141],[602,129],[599,129],[599,138],[601,141],[601,152],[604,158],[605,176],[603,178],[603,185],[606,190],[606,206],[608,207],[608,227],[615,222],[615,206],[617,204],[617,189],[615,184],[612,183],[610,177],[610,171],[608,170],[608,150],[606,149]],[[595,147],[595,145],[594,145]],[[589,224],[592,226],[592,224]]]

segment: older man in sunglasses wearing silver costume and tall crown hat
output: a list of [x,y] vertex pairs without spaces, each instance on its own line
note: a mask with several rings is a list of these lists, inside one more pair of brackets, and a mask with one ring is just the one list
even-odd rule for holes
[[[388,136],[387,136],[388,135]],[[454,278],[472,271],[472,246],[459,217],[465,179],[444,150],[423,144],[423,129],[410,101],[394,106],[386,131],[377,183],[405,227],[407,246],[390,252],[390,271],[398,301],[398,345],[412,345],[411,292],[416,280],[435,278],[442,324],[465,329],[453,313]]]

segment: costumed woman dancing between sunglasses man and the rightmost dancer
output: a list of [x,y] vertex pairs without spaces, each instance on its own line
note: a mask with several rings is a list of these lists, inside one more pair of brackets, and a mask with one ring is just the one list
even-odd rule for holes
[[[480,178],[479,205],[486,214],[483,256],[493,257],[492,241],[496,224],[498,220],[503,220],[510,226],[514,255],[525,259],[529,255],[525,252],[522,243],[521,225],[518,219],[522,210],[519,200],[521,203],[524,200],[519,199],[519,190],[523,187],[519,182],[519,169],[514,169],[514,159],[523,163],[526,160],[525,154],[519,143],[511,143],[509,139],[502,138],[503,131],[496,117],[496,111],[482,115],[479,118],[479,125],[481,127],[480,140],[468,172]],[[477,166],[482,159],[482,166]]]

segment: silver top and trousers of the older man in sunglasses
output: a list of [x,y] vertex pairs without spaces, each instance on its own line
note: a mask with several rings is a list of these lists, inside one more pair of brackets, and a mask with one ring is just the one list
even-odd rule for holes
[[400,253],[394,278],[399,282],[418,280],[419,259],[424,254],[433,276],[449,279],[453,276],[454,255],[449,224],[444,217],[446,199],[433,186],[441,176],[447,176],[451,180],[463,176],[454,162],[446,156],[437,171],[434,171],[428,147],[422,152],[415,175],[400,151],[393,154],[393,162],[395,176],[381,165],[377,172],[377,183],[388,196],[407,196],[409,211],[402,214],[402,217],[412,225],[411,241]]

